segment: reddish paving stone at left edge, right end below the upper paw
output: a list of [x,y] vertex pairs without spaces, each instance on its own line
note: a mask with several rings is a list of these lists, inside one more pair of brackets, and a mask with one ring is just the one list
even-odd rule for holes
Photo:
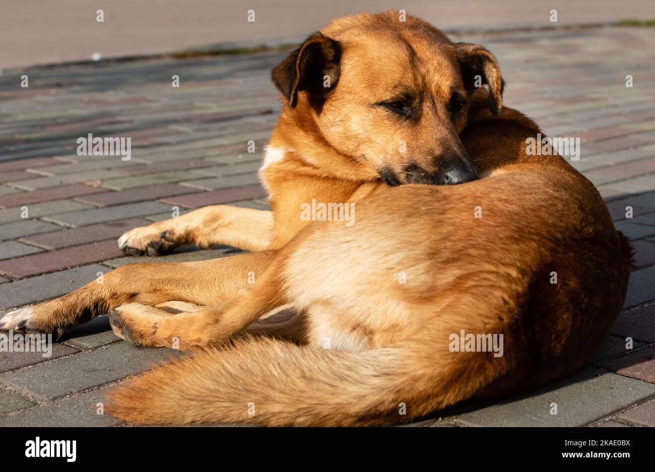
[[18,257],[9,261],[0,261],[0,274],[10,276],[13,279],[22,279],[83,264],[97,263],[112,257],[121,257],[122,254],[123,252],[116,246],[113,239],[92,242]]

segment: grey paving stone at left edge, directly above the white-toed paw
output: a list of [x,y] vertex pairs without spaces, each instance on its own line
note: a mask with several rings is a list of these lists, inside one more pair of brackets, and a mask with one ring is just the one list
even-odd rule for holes
[[[0,285],[0,310],[6,312],[7,308],[60,297],[96,280],[98,272],[106,274],[109,270],[106,266],[92,264],[3,283]],[[0,313],[0,316],[5,314],[4,312]]]

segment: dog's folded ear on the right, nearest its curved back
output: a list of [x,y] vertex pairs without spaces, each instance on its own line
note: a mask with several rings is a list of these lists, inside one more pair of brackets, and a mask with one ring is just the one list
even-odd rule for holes
[[498,115],[505,81],[500,76],[496,58],[484,46],[469,43],[455,43],[455,51],[466,91],[472,94],[477,87],[489,84],[489,109]]

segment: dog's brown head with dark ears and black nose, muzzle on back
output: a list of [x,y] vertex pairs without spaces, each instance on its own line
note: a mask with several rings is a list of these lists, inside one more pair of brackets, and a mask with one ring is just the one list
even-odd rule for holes
[[388,185],[477,179],[458,135],[475,90],[487,84],[489,108],[498,113],[504,86],[483,46],[452,43],[393,10],[335,20],[271,77],[286,101],[283,113]]

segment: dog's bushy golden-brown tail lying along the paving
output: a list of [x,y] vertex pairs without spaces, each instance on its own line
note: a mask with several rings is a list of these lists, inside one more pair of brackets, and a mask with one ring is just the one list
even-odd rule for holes
[[388,424],[466,399],[498,372],[447,342],[440,357],[413,345],[339,352],[246,338],[128,380],[106,410],[134,424]]

